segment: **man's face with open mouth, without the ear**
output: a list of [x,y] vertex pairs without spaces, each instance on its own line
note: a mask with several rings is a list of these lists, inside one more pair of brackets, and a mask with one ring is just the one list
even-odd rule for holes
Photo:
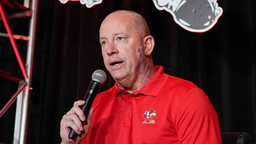
[[100,27],[100,43],[104,64],[117,80],[132,80],[139,74],[143,59],[142,32],[129,14],[112,14]]

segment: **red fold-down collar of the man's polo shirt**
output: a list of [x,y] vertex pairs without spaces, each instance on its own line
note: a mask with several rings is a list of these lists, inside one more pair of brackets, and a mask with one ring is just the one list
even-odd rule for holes
[[[138,91],[134,91],[132,94],[143,94],[148,96],[157,96],[167,81],[169,75],[164,73],[164,68],[160,65],[155,65],[155,69],[157,70],[155,75],[151,78],[151,80],[146,84],[142,89]],[[126,90],[119,89],[117,82],[114,85],[113,97],[114,98],[119,92]]]

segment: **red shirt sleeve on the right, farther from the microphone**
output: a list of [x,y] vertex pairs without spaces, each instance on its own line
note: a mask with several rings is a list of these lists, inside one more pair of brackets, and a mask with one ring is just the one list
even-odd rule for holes
[[222,144],[217,113],[198,87],[183,98],[175,120],[180,144]]

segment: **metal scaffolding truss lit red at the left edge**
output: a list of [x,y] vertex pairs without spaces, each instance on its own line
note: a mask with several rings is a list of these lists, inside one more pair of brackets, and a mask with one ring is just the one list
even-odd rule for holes
[[[24,0],[23,6],[27,8],[15,14],[5,15],[2,9],[2,4],[19,4],[13,0],[0,0],[0,13],[1,18],[4,22],[7,33],[0,33],[1,37],[9,37],[12,47],[14,49],[16,58],[20,65],[24,80],[20,81],[17,92],[11,97],[11,99],[6,103],[6,105],[0,111],[0,118],[5,113],[5,111],[12,105],[12,103],[17,98],[16,114],[15,114],[15,127],[14,127],[14,144],[25,144],[26,143],[26,130],[27,130],[27,109],[28,109],[28,97],[31,90],[31,79],[32,79],[32,68],[33,68],[33,55],[35,46],[35,36],[36,36],[36,22],[37,22],[37,10],[38,10],[38,0]],[[12,34],[9,24],[6,19],[10,18],[21,18],[30,17],[30,26],[28,36]],[[18,52],[15,39],[23,39],[28,41],[27,46],[27,58],[26,65],[23,62]]]

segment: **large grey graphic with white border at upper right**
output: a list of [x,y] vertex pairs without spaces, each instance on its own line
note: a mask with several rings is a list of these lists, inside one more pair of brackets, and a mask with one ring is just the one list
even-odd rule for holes
[[158,10],[166,10],[174,21],[191,32],[210,30],[222,15],[217,0],[153,0]]

